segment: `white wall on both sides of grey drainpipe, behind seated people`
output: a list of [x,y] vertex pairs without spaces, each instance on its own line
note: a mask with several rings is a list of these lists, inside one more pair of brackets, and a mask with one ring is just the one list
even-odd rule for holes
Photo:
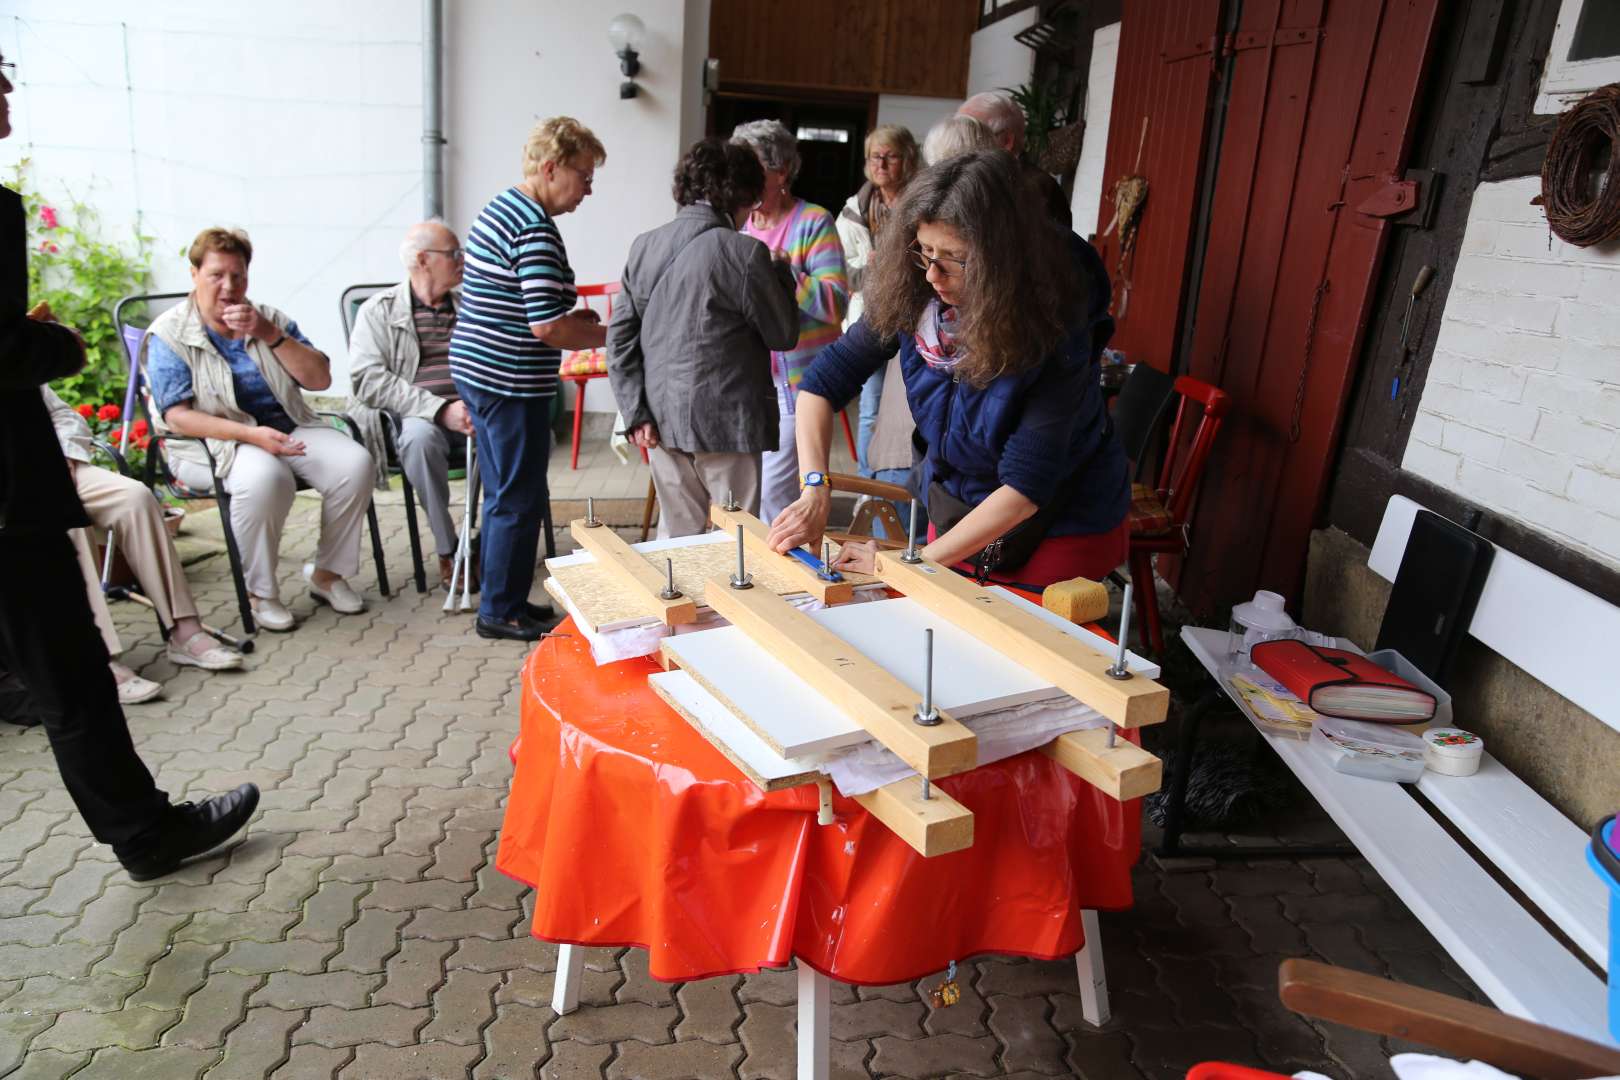
[[[109,236],[152,236],[154,285],[190,288],[206,225],[254,241],[249,295],[288,311],[347,392],[337,296],[397,280],[421,217],[421,26],[408,0],[6,0],[15,133],[36,185],[94,202]],[[638,97],[619,100],[608,23],[646,23]],[[596,191],[561,222],[580,282],[616,280],[630,240],[674,212],[671,172],[701,133],[710,0],[606,8],[446,5],[446,217],[465,233],[522,178],[536,120],[567,113],[608,147]],[[695,37],[695,40],[693,40]],[[128,79],[125,71],[128,70]],[[604,384],[588,405],[611,408]]]

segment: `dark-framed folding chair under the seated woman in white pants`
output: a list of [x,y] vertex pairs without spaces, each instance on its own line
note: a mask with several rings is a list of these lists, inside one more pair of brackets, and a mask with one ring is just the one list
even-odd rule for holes
[[[172,308],[175,303],[183,301],[190,293],[144,293],[134,296],[125,296],[113,308],[112,317],[118,325],[118,337],[123,342],[125,356],[130,361],[130,389],[125,393],[125,402],[133,405],[146,416],[151,424],[151,405],[147,402],[149,387],[146,385],[146,371],[141,368],[141,345],[146,342],[146,327],[131,325],[130,309],[136,304],[144,304],[147,309],[147,325],[154,314],[152,304],[159,304],[157,311]],[[316,410],[318,416],[324,416],[330,421],[339,421],[348,432],[348,436],[364,445],[360,437],[360,427],[355,421],[343,413],[330,413]],[[130,410],[125,410],[125,424],[128,424]],[[335,424],[334,424],[335,426]],[[128,431],[125,432],[128,437]],[[202,453],[207,455],[209,463],[209,479],[211,491],[193,491],[186,487],[168,468],[168,458],[165,445],[170,442],[194,442],[202,447]],[[152,432],[152,449],[156,453],[146,455],[146,476],[143,478],[146,486],[154,492],[157,484],[162,483],[170,495],[183,502],[212,499],[219,504],[219,521],[220,531],[225,534],[225,554],[230,559],[230,576],[232,583],[237,586],[237,607],[241,614],[241,631],[246,638],[253,638],[259,631],[258,622],[253,619],[253,604],[248,601],[248,580],[241,568],[241,549],[237,546],[237,531],[230,523],[230,492],[219,481],[219,468],[214,460],[214,452],[209,450],[206,439],[196,439],[191,436],[175,436],[175,434],[157,434]],[[298,489],[306,489],[308,484],[298,481]],[[377,529],[377,505],[376,500],[366,504],[366,525],[371,529],[371,557],[377,565],[377,591],[384,597],[390,596],[389,591],[389,572],[382,557],[382,534]]]

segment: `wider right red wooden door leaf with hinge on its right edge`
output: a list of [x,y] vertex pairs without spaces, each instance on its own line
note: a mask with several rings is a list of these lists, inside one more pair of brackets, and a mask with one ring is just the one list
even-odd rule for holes
[[1179,578],[1194,610],[1256,588],[1298,607],[1439,2],[1244,0],[1187,358],[1233,395]]

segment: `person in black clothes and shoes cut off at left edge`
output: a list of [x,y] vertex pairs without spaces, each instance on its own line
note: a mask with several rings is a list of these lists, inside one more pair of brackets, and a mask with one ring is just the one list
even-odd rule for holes
[[[10,70],[0,57],[0,139],[11,134]],[[55,437],[40,384],[83,366],[78,334],[44,306],[28,313],[23,199],[0,188],[0,667],[28,688],[91,834],[149,881],[241,829],[259,789],[172,805],[134,753],[68,539],[89,517],[66,460],[39,452]]]

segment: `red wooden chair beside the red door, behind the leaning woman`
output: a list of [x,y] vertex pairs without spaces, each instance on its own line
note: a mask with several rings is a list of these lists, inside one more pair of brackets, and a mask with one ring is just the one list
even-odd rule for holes
[[[1181,402],[1170,429],[1165,463],[1158,470],[1158,484],[1152,489],[1147,484],[1131,486],[1131,580],[1136,583],[1137,625],[1142,628],[1142,640],[1158,654],[1165,651],[1165,631],[1158,622],[1153,555],[1186,555],[1191,549],[1192,497],[1199,491],[1221,419],[1231,408],[1231,395],[1191,376],[1176,379],[1174,392]],[[1189,402],[1202,406],[1196,429]],[[1191,440],[1186,440],[1189,434]]]

